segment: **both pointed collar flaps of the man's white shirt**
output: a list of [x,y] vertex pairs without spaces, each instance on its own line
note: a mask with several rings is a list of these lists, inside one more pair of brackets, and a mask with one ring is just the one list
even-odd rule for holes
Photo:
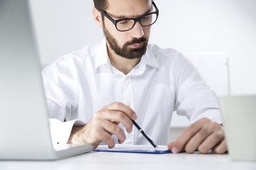
[[[112,72],[110,57],[107,55],[107,44],[105,38],[100,42],[100,47],[96,48],[96,50],[99,50],[99,52],[95,57],[95,71],[97,72],[97,68],[101,65],[107,64]],[[146,53],[142,56],[142,60],[137,66],[139,67],[138,69],[145,69],[146,65],[159,69],[159,63],[151,50],[151,45],[146,47]]]

